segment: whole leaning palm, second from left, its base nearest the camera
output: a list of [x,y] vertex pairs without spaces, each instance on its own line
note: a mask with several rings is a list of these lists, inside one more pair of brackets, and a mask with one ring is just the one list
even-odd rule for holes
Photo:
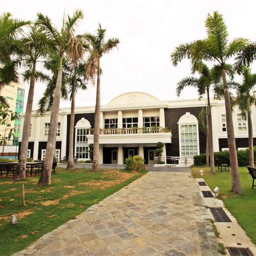
[[[61,92],[61,79],[62,79],[62,60],[63,56],[68,52],[69,42],[75,37],[75,28],[79,20],[83,18],[81,10],[76,10],[73,16],[67,16],[67,19],[63,19],[63,27],[60,31],[52,25],[51,19],[43,14],[38,14],[38,19],[36,24],[41,26],[44,33],[47,36],[49,42],[49,48],[52,51],[59,54],[59,65],[58,65],[58,75],[55,88],[55,96],[53,98],[51,121],[49,125],[49,134],[46,147],[46,160],[44,161],[44,167],[42,170],[42,175],[38,181],[38,185],[49,185],[51,184],[51,169],[53,160],[53,151],[55,149],[56,143],[56,129],[57,129],[57,119],[59,115],[59,105],[60,105],[60,92]],[[77,47],[79,53],[84,52],[84,47],[80,45]]]

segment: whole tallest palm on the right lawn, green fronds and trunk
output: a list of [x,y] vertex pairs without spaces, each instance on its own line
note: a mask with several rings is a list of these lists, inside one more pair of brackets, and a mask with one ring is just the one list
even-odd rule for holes
[[232,110],[230,105],[228,83],[226,81],[226,61],[236,55],[249,42],[247,39],[237,38],[228,43],[228,30],[221,14],[214,11],[213,16],[208,14],[205,22],[207,28],[207,38],[196,40],[192,43],[180,44],[171,54],[172,63],[176,66],[185,57],[191,60],[195,70],[201,70],[205,61],[217,62],[222,73],[224,86],[224,100],[226,109],[226,126],[229,143],[230,167],[232,173],[232,191],[242,193],[240,183],[238,160],[236,151],[236,141],[234,137],[234,127],[232,120]]

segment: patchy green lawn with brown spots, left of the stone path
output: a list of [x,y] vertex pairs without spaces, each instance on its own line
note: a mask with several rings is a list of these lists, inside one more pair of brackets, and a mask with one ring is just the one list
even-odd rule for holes
[[[39,237],[75,218],[93,204],[138,179],[147,171],[56,168],[52,184],[38,187],[39,176],[23,181],[0,177],[0,255],[24,249]],[[22,184],[26,206],[22,206]],[[11,224],[18,214],[18,224]]]

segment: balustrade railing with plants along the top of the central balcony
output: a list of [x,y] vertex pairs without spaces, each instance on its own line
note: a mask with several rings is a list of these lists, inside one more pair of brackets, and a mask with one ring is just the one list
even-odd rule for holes
[[[171,133],[171,130],[168,127],[130,127],[130,128],[109,128],[109,129],[100,129],[100,134],[145,134],[145,133]],[[91,131],[93,134],[93,129]]]

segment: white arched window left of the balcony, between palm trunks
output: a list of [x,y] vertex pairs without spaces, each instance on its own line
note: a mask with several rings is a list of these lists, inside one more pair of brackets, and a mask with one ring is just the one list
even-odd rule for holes
[[89,145],[87,135],[90,134],[90,122],[82,118],[76,123],[75,155],[79,160],[89,159]]

